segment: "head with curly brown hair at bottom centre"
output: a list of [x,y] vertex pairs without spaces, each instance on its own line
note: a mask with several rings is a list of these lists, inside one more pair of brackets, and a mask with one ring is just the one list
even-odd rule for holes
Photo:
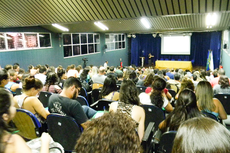
[[136,123],[121,112],[105,113],[93,119],[84,129],[75,146],[77,153],[138,153],[141,152]]

